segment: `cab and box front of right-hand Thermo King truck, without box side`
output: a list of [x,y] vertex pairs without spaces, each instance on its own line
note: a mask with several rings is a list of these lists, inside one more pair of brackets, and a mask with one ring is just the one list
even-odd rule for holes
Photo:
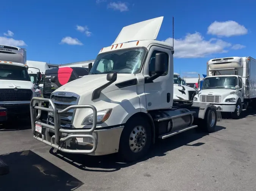
[[246,110],[243,70],[241,57],[210,60],[207,62],[208,76],[194,102],[214,104],[219,111],[230,112],[234,119],[240,118],[241,112]]

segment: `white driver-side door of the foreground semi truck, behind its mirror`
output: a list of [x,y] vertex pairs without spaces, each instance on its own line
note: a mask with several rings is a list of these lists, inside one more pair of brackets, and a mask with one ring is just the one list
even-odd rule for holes
[[144,77],[155,74],[155,54],[160,52],[167,55],[165,73],[155,79],[153,83],[144,84],[148,110],[170,108],[173,105],[173,55],[171,49],[151,46],[143,68],[143,74]]

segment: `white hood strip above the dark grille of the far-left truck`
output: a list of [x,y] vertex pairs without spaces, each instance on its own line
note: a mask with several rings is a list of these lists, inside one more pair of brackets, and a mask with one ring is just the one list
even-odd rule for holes
[[1,89],[32,89],[34,84],[30,81],[0,80]]

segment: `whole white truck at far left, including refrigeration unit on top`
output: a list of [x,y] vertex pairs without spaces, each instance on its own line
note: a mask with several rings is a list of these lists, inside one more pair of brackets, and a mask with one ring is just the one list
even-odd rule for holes
[[30,81],[26,55],[26,49],[0,45],[0,107],[7,109],[8,118],[29,117],[32,97],[42,96]]

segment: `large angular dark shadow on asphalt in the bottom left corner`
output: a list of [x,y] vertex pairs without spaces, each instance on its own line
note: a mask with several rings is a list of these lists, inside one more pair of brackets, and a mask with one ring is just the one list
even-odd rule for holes
[[32,151],[0,156],[9,174],[0,176],[0,191],[71,191],[82,182]]

